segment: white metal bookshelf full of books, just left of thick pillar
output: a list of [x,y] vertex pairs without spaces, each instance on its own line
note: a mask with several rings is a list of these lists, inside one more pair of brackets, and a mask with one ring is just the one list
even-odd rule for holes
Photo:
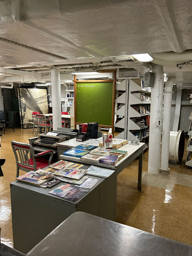
[[142,79],[130,79],[128,108],[128,140],[138,136],[140,141],[146,142],[149,137],[151,91],[143,88]]

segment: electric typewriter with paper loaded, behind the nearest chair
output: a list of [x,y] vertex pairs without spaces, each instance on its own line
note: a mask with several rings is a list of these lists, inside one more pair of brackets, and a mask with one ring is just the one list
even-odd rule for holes
[[[52,134],[54,134],[52,132]],[[57,143],[70,140],[69,136],[55,133],[55,135],[48,135],[47,133],[40,134],[34,144],[47,148],[57,148]]]

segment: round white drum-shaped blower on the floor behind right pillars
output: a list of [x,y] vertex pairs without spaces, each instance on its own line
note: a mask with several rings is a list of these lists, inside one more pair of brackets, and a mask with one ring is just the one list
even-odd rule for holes
[[169,144],[169,160],[180,164],[183,159],[185,148],[185,133],[179,130],[178,132],[170,132]]

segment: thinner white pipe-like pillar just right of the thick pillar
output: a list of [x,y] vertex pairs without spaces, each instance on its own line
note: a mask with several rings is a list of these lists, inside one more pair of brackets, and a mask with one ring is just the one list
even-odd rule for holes
[[163,133],[161,147],[161,167],[164,172],[169,171],[169,140],[171,125],[171,105],[172,105],[172,88],[175,77],[169,77],[164,89],[164,107],[163,107]]

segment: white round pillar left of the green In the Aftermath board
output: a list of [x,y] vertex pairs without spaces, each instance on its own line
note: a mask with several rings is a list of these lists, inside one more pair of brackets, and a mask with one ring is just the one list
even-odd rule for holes
[[53,110],[53,129],[62,127],[61,124],[61,85],[60,68],[51,69],[51,90],[52,90],[52,110]]

